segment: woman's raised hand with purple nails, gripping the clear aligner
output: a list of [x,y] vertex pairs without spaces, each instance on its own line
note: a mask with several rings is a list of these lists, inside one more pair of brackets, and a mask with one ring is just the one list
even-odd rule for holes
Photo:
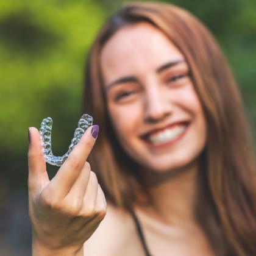
[[[97,128],[94,127],[94,137]],[[96,140],[92,130],[93,127],[86,130],[49,180],[40,134],[34,127],[29,129],[29,215],[34,256],[76,255],[105,216],[104,193],[86,162]]]

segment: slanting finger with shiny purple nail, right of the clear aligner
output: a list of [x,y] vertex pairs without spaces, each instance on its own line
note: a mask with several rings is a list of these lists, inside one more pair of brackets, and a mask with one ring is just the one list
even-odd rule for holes
[[79,143],[77,143],[73,151],[69,154],[68,159],[63,163],[55,177],[51,180],[51,183],[49,184],[50,189],[52,188],[52,191],[54,191],[55,188],[58,187],[60,197],[65,197],[66,194],[68,194],[74,182],[76,182],[77,177],[79,177],[96,141],[98,131],[99,126],[91,126],[85,131]]

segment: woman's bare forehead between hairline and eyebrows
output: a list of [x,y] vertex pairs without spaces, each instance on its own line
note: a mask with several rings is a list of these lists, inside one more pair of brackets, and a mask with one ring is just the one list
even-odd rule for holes
[[132,24],[118,30],[101,52],[103,73],[127,73],[155,69],[166,62],[184,59],[163,32],[148,23]]

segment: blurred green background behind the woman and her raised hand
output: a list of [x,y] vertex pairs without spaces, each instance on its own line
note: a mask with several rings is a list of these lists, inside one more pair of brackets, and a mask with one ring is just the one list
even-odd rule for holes
[[[1,255],[18,255],[15,249],[29,255],[27,127],[39,127],[51,116],[54,153],[65,153],[82,113],[88,48],[105,19],[125,2],[131,1],[0,1]],[[255,141],[256,1],[165,2],[190,10],[217,38],[240,86]]]

